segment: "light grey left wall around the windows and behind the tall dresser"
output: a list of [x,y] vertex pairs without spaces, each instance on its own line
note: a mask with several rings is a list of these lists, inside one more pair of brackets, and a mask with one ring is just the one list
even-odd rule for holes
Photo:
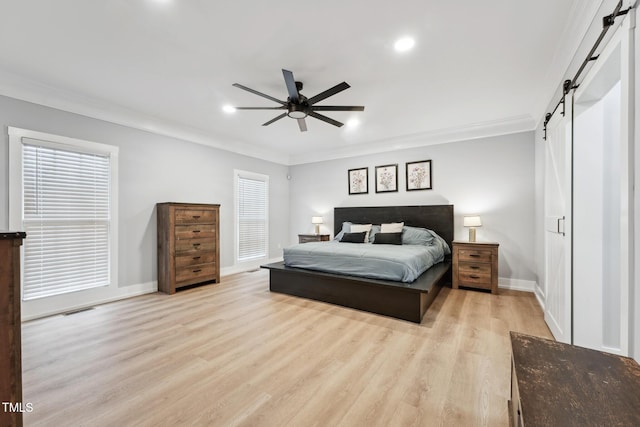
[[9,224],[7,126],[120,147],[119,287],[157,281],[158,202],[219,203],[221,268],[232,270],[234,168],[269,175],[269,257],[281,256],[289,231],[287,166],[2,96],[0,125],[0,229]]

